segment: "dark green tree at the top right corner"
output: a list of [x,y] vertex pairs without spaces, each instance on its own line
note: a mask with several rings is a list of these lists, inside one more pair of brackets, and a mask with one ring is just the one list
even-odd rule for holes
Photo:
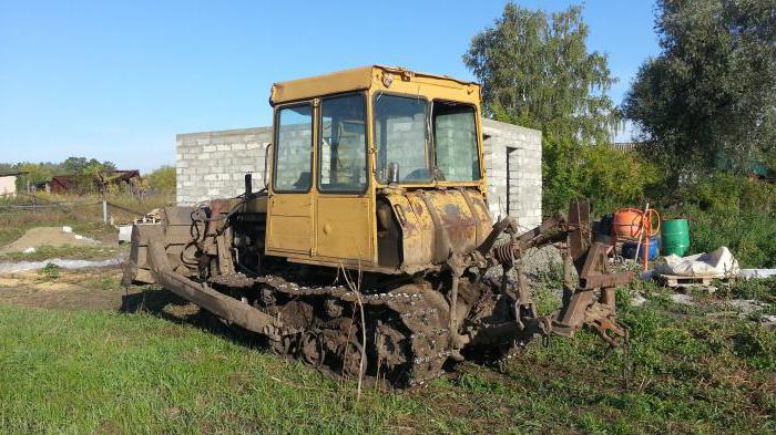
[[662,52],[641,66],[623,112],[670,180],[776,165],[776,2],[660,0],[657,9]]

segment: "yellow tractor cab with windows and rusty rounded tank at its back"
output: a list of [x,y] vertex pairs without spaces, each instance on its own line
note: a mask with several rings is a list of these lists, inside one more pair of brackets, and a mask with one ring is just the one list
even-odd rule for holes
[[275,83],[265,253],[412,272],[482,242],[480,87],[367,66]]

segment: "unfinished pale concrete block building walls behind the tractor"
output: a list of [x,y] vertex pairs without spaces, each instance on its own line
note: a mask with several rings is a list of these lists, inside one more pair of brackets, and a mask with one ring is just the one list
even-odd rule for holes
[[[391,125],[394,134],[410,134],[405,130],[411,123]],[[482,120],[482,134],[491,217],[509,214],[523,229],[538,226],[542,218],[541,132]],[[245,173],[253,174],[254,189],[263,187],[265,148],[270,142],[272,127],[178,134],[178,205],[237,196],[245,188]],[[404,174],[407,166],[400,170]]]

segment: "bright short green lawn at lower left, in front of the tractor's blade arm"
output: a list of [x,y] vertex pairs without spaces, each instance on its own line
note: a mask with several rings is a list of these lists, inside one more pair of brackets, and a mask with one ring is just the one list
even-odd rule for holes
[[[145,314],[0,307],[0,349],[1,433],[390,432],[428,413]],[[466,427],[439,418],[423,426]]]

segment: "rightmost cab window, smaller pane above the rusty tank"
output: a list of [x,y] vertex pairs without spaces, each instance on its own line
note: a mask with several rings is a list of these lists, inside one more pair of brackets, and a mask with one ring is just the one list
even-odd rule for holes
[[450,102],[435,102],[431,112],[439,169],[437,178],[447,182],[480,179],[474,107]]

